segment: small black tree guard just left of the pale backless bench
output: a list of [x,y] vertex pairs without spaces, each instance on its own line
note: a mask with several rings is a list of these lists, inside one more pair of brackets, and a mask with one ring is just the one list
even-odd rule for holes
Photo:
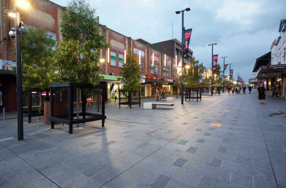
[[132,105],[141,105],[140,90],[118,90],[119,96],[119,108],[120,105],[128,105],[130,108]]

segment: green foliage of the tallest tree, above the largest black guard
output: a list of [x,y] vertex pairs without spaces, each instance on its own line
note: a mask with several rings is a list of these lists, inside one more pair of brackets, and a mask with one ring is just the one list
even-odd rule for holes
[[106,36],[97,29],[95,9],[85,0],[72,0],[62,14],[62,43],[55,51],[58,73],[52,83],[76,82],[97,84],[100,49],[107,49]]

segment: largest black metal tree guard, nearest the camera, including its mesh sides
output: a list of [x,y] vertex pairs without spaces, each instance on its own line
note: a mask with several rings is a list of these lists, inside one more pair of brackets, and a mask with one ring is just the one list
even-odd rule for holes
[[104,127],[106,85],[82,83],[49,84],[51,129],[54,122],[72,125],[102,120]]

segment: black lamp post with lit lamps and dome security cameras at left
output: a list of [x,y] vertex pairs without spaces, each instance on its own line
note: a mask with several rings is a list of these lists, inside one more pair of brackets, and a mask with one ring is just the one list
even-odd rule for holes
[[24,0],[13,0],[15,9],[13,11],[6,10],[5,14],[15,18],[15,26],[9,32],[11,38],[16,39],[16,79],[17,79],[17,125],[18,125],[18,140],[24,139],[23,126],[23,96],[22,96],[22,49],[21,49],[21,35],[26,34],[27,31],[21,22],[21,8],[29,8],[32,3]]

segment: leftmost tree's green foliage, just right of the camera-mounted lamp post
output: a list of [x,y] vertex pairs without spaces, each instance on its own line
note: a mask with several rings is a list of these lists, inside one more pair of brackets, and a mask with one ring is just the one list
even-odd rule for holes
[[[48,74],[55,73],[55,64],[52,58],[52,47],[55,41],[42,27],[28,28],[27,34],[21,37],[22,47],[22,83],[23,89],[48,88]],[[16,74],[16,67],[13,67]]]

